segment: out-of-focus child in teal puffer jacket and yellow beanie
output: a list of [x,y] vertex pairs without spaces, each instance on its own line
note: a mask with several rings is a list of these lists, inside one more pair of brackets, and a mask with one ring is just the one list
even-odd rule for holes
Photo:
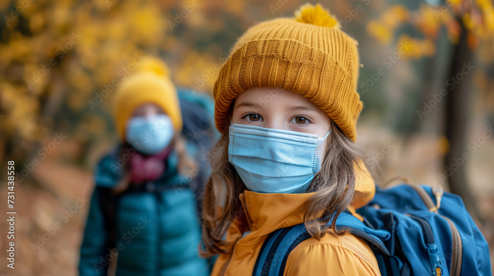
[[152,58],[115,93],[123,144],[96,168],[80,275],[107,275],[115,260],[118,276],[208,275],[197,250],[201,234],[190,188],[196,162],[188,154],[201,156],[211,140],[190,138],[191,130],[207,131],[210,116],[197,103],[180,99],[179,105],[165,64]]

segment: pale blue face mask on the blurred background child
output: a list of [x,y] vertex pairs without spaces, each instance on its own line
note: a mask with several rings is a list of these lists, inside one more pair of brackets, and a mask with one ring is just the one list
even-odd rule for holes
[[125,139],[140,152],[152,155],[163,151],[174,133],[173,122],[165,114],[133,117],[127,122]]

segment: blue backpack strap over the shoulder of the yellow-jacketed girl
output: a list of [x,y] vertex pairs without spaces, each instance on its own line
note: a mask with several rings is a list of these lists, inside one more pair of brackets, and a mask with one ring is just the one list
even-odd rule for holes
[[[328,225],[330,224],[331,222]],[[390,238],[389,232],[374,230],[348,212],[342,212],[338,216],[336,227],[339,230],[347,229],[351,234],[375,245],[383,254],[390,255],[382,242]],[[303,223],[274,231],[268,235],[261,247],[252,276],[283,276],[288,255],[298,244],[310,238]]]

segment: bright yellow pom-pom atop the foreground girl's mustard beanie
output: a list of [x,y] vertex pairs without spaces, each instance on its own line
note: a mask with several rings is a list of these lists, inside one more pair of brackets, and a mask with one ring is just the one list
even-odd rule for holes
[[302,23],[340,30],[340,24],[321,4],[306,3],[295,11],[295,20]]

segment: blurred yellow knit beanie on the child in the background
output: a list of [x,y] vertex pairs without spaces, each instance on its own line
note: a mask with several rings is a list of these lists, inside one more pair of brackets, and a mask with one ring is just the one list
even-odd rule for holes
[[159,59],[148,57],[120,84],[115,95],[114,120],[117,134],[125,139],[125,126],[135,108],[156,104],[170,116],[175,130],[182,129],[182,113],[169,70]]

